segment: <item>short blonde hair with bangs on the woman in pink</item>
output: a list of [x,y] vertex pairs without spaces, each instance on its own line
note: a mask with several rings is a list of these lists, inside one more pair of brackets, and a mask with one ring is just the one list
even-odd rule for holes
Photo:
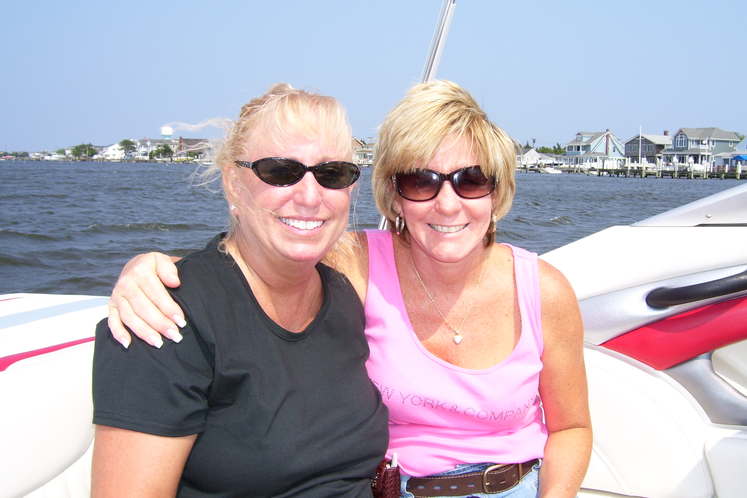
[[[388,114],[379,130],[373,166],[373,197],[394,231],[397,191],[391,178],[423,169],[450,138],[467,137],[486,176],[495,178],[492,215],[497,221],[509,209],[515,191],[518,144],[492,123],[467,90],[435,81],[416,84]],[[487,233],[487,243],[495,236]]]

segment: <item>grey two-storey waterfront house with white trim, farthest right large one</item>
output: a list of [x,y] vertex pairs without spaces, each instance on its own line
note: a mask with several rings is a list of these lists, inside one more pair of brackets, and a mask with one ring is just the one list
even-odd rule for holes
[[674,135],[672,147],[662,150],[662,157],[675,165],[698,165],[695,169],[714,167],[717,159],[723,158],[722,153],[734,152],[742,140],[739,133],[720,128],[681,128]]

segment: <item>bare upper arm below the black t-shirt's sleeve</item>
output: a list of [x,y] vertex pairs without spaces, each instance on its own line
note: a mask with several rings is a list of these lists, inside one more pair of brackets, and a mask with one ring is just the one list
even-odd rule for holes
[[161,437],[96,425],[91,498],[176,497],[196,437]]

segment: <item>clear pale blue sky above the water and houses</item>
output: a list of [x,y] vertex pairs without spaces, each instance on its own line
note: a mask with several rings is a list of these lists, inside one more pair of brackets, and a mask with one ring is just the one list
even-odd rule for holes
[[[376,135],[418,81],[441,0],[0,4],[0,150],[159,138],[273,82]],[[456,0],[438,78],[522,143],[718,126],[747,134],[747,2]],[[185,137],[219,132],[184,132]],[[177,133],[179,135],[179,132]]]

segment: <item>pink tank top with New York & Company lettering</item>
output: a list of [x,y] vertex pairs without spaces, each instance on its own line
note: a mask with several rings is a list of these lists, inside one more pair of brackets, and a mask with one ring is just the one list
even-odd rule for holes
[[521,310],[518,344],[498,365],[463,369],[427,351],[412,330],[391,232],[366,233],[371,348],[366,367],[389,408],[387,458],[397,452],[400,470],[417,477],[459,464],[542,458],[548,431],[537,393],[542,370],[537,255],[509,245]]

